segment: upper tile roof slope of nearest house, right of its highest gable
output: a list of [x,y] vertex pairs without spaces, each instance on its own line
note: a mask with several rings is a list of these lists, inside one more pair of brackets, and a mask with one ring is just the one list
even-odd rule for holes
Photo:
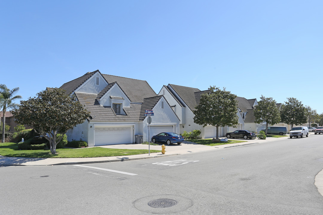
[[157,95],[146,81],[115,75],[102,74],[102,76],[108,83],[117,82],[131,102],[142,103],[144,98]]

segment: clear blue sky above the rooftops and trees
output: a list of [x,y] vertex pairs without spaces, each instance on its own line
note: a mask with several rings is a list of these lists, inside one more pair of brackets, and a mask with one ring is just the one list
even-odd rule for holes
[[[1,1],[0,83],[23,100],[87,72],[295,97],[323,112],[323,1]],[[315,93],[315,92],[318,93]]]

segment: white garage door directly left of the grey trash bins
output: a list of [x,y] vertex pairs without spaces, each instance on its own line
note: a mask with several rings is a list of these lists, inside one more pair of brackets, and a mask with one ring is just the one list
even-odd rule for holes
[[124,143],[132,143],[131,127],[95,127],[95,146]]

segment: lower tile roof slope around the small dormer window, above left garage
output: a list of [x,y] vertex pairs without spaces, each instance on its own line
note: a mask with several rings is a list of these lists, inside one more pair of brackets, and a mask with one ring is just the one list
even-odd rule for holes
[[141,110],[140,104],[130,104],[130,107],[124,107],[123,110],[127,115],[117,115],[109,106],[101,106],[96,100],[97,94],[75,93],[78,101],[91,112],[90,121],[108,121],[108,122],[129,122],[139,121]]

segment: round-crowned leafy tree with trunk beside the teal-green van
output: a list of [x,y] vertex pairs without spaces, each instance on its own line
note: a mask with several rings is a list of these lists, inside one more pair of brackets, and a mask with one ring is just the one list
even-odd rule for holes
[[258,124],[266,122],[267,135],[268,125],[278,123],[280,121],[280,113],[273,98],[265,98],[265,96],[261,95],[260,99],[254,109],[255,122]]

